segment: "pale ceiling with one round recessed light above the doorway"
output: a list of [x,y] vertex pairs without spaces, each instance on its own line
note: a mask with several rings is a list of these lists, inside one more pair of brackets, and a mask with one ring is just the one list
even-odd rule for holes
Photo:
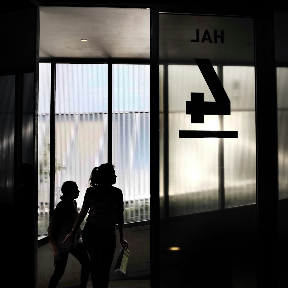
[[150,11],[41,6],[39,57],[149,59]]

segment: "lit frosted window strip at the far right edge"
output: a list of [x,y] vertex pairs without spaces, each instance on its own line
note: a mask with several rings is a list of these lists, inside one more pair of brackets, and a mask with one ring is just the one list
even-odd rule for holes
[[277,67],[279,199],[288,198],[288,68]]

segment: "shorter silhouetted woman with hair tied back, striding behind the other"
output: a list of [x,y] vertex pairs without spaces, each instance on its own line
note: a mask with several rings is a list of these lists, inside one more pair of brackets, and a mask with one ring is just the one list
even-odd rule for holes
[[71,231],[78,217],[77,204],[74,199],[78,198],[79,190],[76,182],[66,181],[61,187],[63,195],[57,204],[49,226],[49,246],[54,255],[54,274],[50,278],[48,288],[57,286],[63,276],[67,264],[68,254],[71,253],[82,265],[80,274],[80,287],[86,288],[90,273],[90,259],[81,239],[80,228],[71,235],[71,241],[62,243],[66,235]]

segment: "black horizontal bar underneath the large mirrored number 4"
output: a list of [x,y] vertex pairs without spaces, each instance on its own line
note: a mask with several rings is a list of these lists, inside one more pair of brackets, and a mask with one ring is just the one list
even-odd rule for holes
[[179,130],[179,138],[238,138],[238,131]]

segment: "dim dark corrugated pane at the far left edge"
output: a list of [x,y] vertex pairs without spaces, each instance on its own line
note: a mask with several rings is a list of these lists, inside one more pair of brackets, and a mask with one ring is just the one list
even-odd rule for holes
[[0,76],[0,201],[13,203],[15,75]]

